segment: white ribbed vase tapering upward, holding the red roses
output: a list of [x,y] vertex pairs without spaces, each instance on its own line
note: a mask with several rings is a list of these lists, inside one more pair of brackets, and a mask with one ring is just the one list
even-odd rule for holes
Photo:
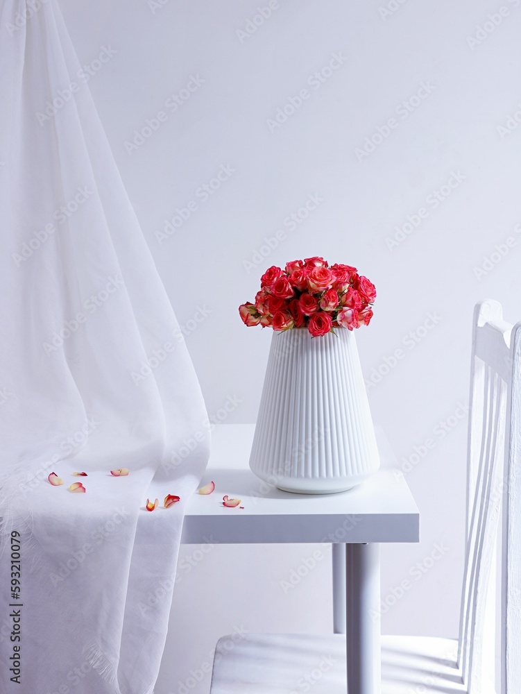
[[351,489],[379,468],[355,334],[273,332],[250,468],[284,491]]

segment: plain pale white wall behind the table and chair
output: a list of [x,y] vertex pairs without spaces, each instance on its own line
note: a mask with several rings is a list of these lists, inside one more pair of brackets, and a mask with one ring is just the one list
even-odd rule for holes
[[[89,85],[178,319],[197,325],[187,343],[210,414],[232,396],[241,402],[228,421],[255,420],[271,336],[245,328],[237,306],[253,300],[268,265],[317,254],[375,282],[374,321],[357,334],[375,421],[400,465],[433,442],[407,473],[422,541],[384,548],[383,598],[434,545],[446,548],[388,609],[383,628],[453,636],[472,307],[491,296],[507,319],[521,316],[521,128],[509,121],[516,111],[521,120],[520,0],[278,0],[242,41],[236,30],[255,15],[260,23],[266,0],[62,5],[80,60],[88,65],[103,46],[117,51]],[[484,38],[468,40],[476,35]],[[342,65],[315,89],[310,76],[338,53]],[[173,112],[169,97],[191,76],[204,83]],[[309,99],[271,132],[268,119],[304,88]],[[125,142],[160,111],[164,122],[128,153]],[[357,155],[388,119],[388,137]],[[196,191],[221,166],[234,171],[204,201]],[[310,194],[323,198],[318,208],[295,230],[284,226]],[[155,232],[189,201],[198,209],[160,244]],[[424,219],[414,217],[420,208]],[[420,223],[389,248],[408,215]],[[248,268],[277,230],[284,239]],[[493,253],[499,262],[477,272]],[[207,315],[194,323],[200,307]],[[418,330],[417,342],[407,337]],[[371,382],[379,368],[388,373]],[[288,594],[280,585],[314,549],[216,547],[196,561],[197,548],[182,548],[195,566],[176,589],[157,694],[206,692],[209,677],[193,687],[190,670],[209,663],[216,638],[234,627],[328,631],[329,555]]]

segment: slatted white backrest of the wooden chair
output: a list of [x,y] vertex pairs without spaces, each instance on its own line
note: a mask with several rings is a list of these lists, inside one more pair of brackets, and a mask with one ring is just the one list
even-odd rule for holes
[[[521,367],[520,341],[515,339],[517,335],[521,335],[518,326],[513,328],[503,321],[499,303],[484,301],[475,307],[468,430],[466,564],[459,634],[459,666],[470,694],[479,694],[481,685],[484,684],[484,657],[488,655],[489,661],[494,660],[494,654],[484,650],[488,630],[486,613],[490,607],[490,580],[495,568],[497,533],[504,497],[507,500],[503,505],[504,536],[508,541],[506,545],[503,543],[502,582],[506,629],[502,638],[504,646],[508,648],[502,649],[502,670],[505,671],[502,672],[505,683],[502,694],[514,694],[513,684],[510,688],[506,684],[513,682],[513,675],[509,675],[506,670],[515,668],[511,650],[515,631],[511,604],[515,582],[507,578],[506,568],[508,565],[507,570],[512,570],[517,566],[519,576],[521,555],[514,551],[513,543],[517,541],[519,547],[521,517],[515,515],[520,514],[520,510],[515,508],[515,503],[508,501],[509,493],[505,492],[508,492],[510,484],[518,484],[519,487],[513,474],[515,464],[513,465],[512,455],[512,443],[516,436],[518,444],[521,444],[521,423],[518,421],[521,407],[520,403],[516,405],[516,398],[521,398],[521,384],[515,386],[516,374],[520,378],[521,371],[513,369],[513,364]],[[513,416],[516,407],[517,419]],[[517,534],[513,521],[518,521]],[[517,628],[520,627],[518,623]],[[508,668],[506,663],[510,663]],[[518,683],[520,681],[518,679]]]

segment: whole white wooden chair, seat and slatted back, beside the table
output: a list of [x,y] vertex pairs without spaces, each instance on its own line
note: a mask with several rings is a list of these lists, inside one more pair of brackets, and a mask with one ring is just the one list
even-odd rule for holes
[[[382,636],[382,694],[495,692],[501,509],[501,694],[521,693],[521,323],[504,323],[495,301],[478,304],[474,317],[459,638]],[[211,694],[346,693],[340,556],[334,552],[333,577],[334,628],[341,633],[250,634],[237,643],[224,636],[216,646]]]

